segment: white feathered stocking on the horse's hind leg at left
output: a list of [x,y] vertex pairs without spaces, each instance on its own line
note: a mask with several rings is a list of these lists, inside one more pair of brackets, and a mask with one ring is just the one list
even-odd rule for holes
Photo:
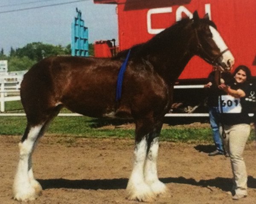
[[32,127],[29,130],[27,139],[19,143],[20,160],[13,185],[14,198],[17,200],[34,200],[38,196],[38,189],[41,188],[40,184],[34,179],[32,169],[29,170],[29,159],[42,126]]

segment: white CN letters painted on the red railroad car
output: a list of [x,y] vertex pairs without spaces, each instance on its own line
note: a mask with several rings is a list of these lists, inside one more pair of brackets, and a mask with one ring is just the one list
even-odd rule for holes
[[[204,5],[205,13],[209,15],[209,19],[211,19],[211,5],[209,3]],[[164,13],[172,13],[172,7],[166,8],[152,8],[148,10],[147,13],[147,28],[149,34],[158,34],[163,31],[165,28],[152,28],[151,25],[151,16],[154,14],[164,14]],[[179,6],[175,12],[176,21],[181,20],[182,13],[186,14],[189,18],[193,17],[192,12],[190,12],[185,6]]]

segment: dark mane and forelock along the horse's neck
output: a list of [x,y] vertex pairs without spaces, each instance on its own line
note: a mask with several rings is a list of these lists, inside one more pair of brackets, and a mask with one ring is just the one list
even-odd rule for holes
[[[140,57],[146,53],[148,53],[149,50],[152,48],[156,49],[157,47],[161,47],[161,44],[165,44],[166,36],[168,36],[168,41],[172,42],[173,40],[177,40],[177,37],[180,35],[180,30],[186,27],[189,24],[192,24],[193,20],[189,19],[189,17],[183,18],[180,21],[177,21],[169,28],[166,28],[159,34],[156,34],[154,37],[152,37],[147,42],[137,44],[132,46],[129,49],[120,51],[115,57],[112,59],[125,59],[125,57],[128,54],[128,51],[131,50],[130,58],[131,57]],[[208,19],[202,18],[200,19],[200,22],[206,23],[214,28],[216,28],[215,24]]]

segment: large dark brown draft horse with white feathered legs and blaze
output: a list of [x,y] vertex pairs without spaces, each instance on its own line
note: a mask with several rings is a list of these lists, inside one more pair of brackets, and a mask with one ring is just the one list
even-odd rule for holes
[[[63,107],[91,117],[133,118],[134,164],[127,199],[150,201],[166,192],[157,176],[160,130],[172,105],[174,83],[194,55],[225,71],[234,64],[215,23],[207,14],[200,18],[197,11],[191,19],[184,18],[112,58],[57,56],[33,65],[20,87],[27,126],[19,142],[14,198],[29,201],[41,194],[32,171],[32,152]],[[122,95],[116,100],[117,76],[125,59]]]

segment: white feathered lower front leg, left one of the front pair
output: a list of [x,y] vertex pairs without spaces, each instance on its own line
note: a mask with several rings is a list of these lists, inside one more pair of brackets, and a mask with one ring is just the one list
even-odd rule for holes
[[151,201],[154,193],[144,180],[144,165],[147,151],[146,137],[136,143],[134,150],[134,167],[128,181],[127,192],[129,200]]

